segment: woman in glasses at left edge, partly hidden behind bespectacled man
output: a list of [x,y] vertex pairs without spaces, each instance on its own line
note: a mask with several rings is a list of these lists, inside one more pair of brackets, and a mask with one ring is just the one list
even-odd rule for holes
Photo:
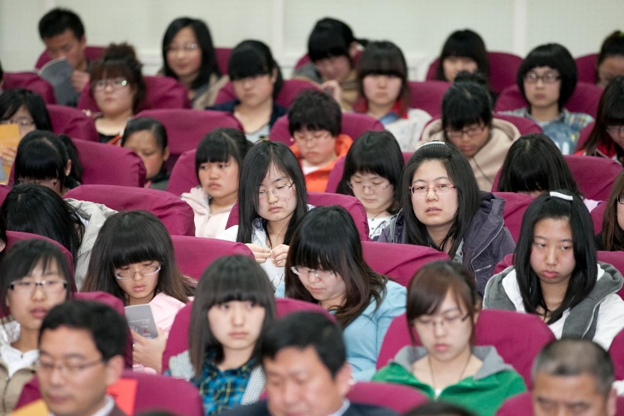
[[18,241],[0,265],[0,399],[2,414],[17,404],[35,372],[39,327],[54,305],[73,297],[74,277],[61,250],[44,240]]

